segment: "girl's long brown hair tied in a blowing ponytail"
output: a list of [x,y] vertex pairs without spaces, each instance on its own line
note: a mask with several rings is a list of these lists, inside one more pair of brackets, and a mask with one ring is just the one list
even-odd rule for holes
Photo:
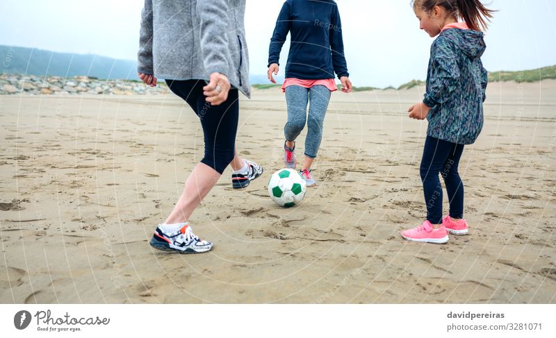
[[411,3],[413,8],[419,8],[423,12],[430,12],[434,6],[443,7],[455,17],[464,19],[473,31],[486,31],[492,13],[496,12],[486,8],[480,0],[413,0]]

